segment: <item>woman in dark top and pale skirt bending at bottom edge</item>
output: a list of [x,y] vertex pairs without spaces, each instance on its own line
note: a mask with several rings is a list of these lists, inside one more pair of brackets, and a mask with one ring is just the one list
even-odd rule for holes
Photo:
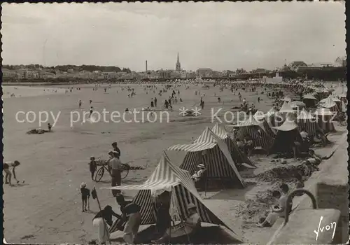
[[107,224],[109,226],[113,225],[112,216],[115,216],[116,218],[121,217],[113,211],[111,206],[107,205],[92,219],[94,228],[97,228],[99,244],[106,244],[106,241],[109,241],[109,228]]

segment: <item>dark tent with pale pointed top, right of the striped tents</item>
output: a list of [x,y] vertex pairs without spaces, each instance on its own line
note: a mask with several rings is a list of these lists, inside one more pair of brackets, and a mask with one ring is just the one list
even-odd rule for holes
[[277,134],[274,139],[274,144],[272,144],[272,147],[269,149],[269,154],[289,153],[293,151],[295,141],[302,141],[300,132],[297,130],[297,125],[291,118],[287,118],[281,126],[274,127],[274,129],[277,130]]

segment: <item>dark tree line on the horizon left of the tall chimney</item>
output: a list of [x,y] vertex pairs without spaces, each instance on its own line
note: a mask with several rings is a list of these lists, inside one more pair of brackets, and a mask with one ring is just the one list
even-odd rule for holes
[[48,69],[50,71],[68,71],[68,70],[73,70],[73,71],[102,71],[102,72],[110,72],[110,71],[116,71],[116,72],[127,72],[131,73],[131,70],[129,68],[123,68],[121,69],[118,66],[94,66],[94,65],[86,65],[83,64],[81,66],[76,66],[72,64],[66,64],[66,65],[59,65],[59,66],[42,66],[41,64],[27,64],[27,65],[10,65],[10,64],[3,64],[3,68],[5,69],[10,69],[10,70],[16,70],[16,69]]

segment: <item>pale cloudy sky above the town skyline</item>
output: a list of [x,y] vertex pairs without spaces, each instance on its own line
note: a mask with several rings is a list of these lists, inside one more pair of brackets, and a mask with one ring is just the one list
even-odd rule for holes
[[276,69],[346,55],[344,2],[2,3],[3,64]]

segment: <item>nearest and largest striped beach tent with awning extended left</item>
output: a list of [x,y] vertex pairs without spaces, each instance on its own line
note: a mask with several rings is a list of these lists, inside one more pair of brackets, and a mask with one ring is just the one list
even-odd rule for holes
[[[223,221],[203,203],[188,171],[174,165],[165,153],[162,155],[153,174],[151,174],[148,180],[143,184],[115,186],[104,189],[139,190],[133,202],[141,207],[141,225],[151,225],[157,222],[157,217],[155,216],[155,198],[167,191],[171,193],[170,207],[176,209],[170,210],[170,213],[177,214],[172,216],[174,221],[186,220],[188,217],[188,204],[193,203],[203,223],[223,225],[225,228],[235,233],[232,228],[229,228],[228,225],[223,223]],[[114,231],[111,230],[111,232]],[[236,233],[235,235],[237,241],[240,241]]]

